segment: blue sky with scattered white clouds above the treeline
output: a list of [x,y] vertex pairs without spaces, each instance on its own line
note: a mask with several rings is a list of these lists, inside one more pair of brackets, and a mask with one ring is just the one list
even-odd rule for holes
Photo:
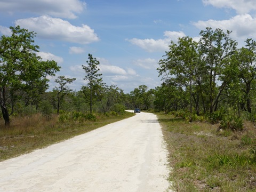
[[139,85],[161,85],[157,63],[178,37],[197,40],[212,27],[233,31],[239,46],[255,39],[255,10],[255,0],[0,0],[0,35],[17,25],[37,33],[38,54],[61,66],[49,77],[49,91],[60,75],[77,78],[69,87],[80,90],[91,53],[103,81],[130,93]]

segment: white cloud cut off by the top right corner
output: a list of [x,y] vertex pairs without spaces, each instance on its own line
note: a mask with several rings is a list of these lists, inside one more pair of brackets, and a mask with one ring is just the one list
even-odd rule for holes
[[203,0],[205,5],[213,5],[215,7],[225,7],[234,9],[238,14],[249,13],[256,10],[255,0]]

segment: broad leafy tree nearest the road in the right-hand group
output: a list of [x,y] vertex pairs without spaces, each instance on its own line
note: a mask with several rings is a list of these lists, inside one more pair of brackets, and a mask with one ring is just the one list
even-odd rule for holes
[[[190,95],[190,114],[192,113],[192,97],[193,85],[196,83],[195,79],[198,75],[199,54],[197,52],[197,42],[193,41],[191,37],[178,38],[178,45],[171,42],[169,46],[170,51],[166,52],[166,59],[160,60],[158,68],[159,74],[167,74],[167,77],[172,78],[181,87],[185,86],[189,90]],[[201,74],[200,74],[201,75]],[[168,81],[166,79],[166,81]],[[197,101],[197,100],[195,100]],[[197,109],[197,113],[199,113]]]

